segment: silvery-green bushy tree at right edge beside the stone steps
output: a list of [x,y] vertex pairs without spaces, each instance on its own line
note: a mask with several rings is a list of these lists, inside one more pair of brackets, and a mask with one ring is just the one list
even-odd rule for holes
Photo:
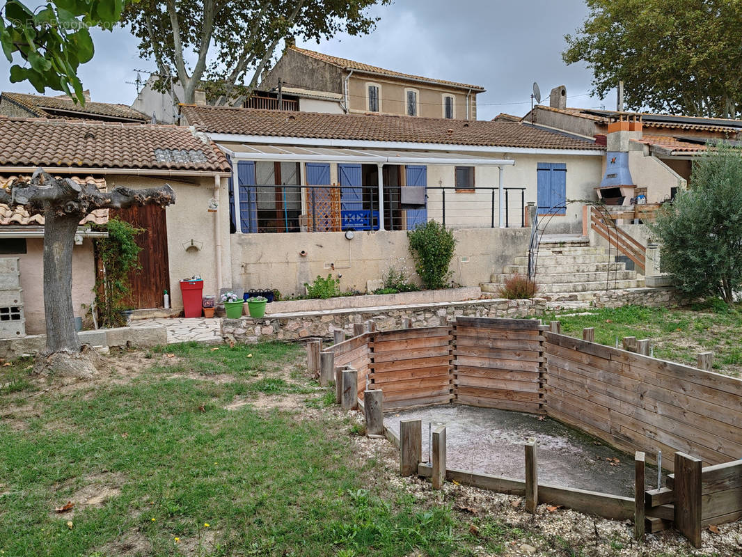
[[660,266],[690,296],[731,304],[742,290],[742,149],[710,149],[694,163],[692,184],[651,225]]

